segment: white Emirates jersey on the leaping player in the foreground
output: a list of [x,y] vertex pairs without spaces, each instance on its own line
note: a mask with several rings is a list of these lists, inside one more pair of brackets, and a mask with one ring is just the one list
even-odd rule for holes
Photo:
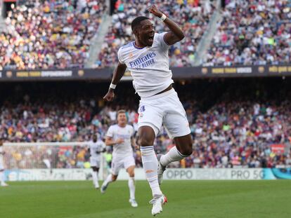
[[131,41],[118,50],[119,62],[126,64],[134,79],[134,89],[140,97],[149,97],[174,83],[169,70],[169,46],[164,34],[155,33],[153,46],[137,48]]

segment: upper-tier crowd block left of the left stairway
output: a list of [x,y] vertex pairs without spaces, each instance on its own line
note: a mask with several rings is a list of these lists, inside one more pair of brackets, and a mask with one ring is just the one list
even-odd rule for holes
[[0,34],[0,70],[84,67],[105,11],[105,0],[13,4]]

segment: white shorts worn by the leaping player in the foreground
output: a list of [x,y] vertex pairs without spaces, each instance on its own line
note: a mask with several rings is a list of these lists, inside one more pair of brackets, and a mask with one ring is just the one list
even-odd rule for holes
[[191,132],[186,111],[174,88],[159,95],[141,98],[138,114],[138,128],[148,125],[153,128],[156,136],[162,125],[171,138]]

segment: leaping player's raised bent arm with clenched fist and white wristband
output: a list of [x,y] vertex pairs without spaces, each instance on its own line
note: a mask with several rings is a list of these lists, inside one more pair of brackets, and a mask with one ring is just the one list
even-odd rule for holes
[[160,18],[167,27],[169,27],[170,32],[164,34],[164,41],[168,45],[174,45],[174,43],[181,41],[184,39],[185,35],[183,34],[182,29],[174,22],[173,20],[169,19],[164,15],[155,5],[150,6],[148,11],[155,15],[157,18]]

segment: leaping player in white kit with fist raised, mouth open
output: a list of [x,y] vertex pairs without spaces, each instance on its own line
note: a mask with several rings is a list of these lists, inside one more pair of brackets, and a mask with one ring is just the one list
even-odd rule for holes
[[[167,165],[192,154],[190,128],[179,97],[172,88],[172,71],[169,70],[169,46],[181,41],[185,36],[174,21],[167,18],[154,5],[148,11],[160,18],[169,32],[155,33],[153,21],[146,17],[135,18],[131,29],[135,41],[118,50],[119,63],[112,77],[110,88],[104,99],[112,101],[116,84],[128,68],[134,81],[134,88],[141,97],[138,108],[138,137],[145,177],[153,193],[152,214],[162,212],[167,198],[160,190],[162,174]],[[176,146],[164,156],[155,156],[153,142],[164,125]]]

